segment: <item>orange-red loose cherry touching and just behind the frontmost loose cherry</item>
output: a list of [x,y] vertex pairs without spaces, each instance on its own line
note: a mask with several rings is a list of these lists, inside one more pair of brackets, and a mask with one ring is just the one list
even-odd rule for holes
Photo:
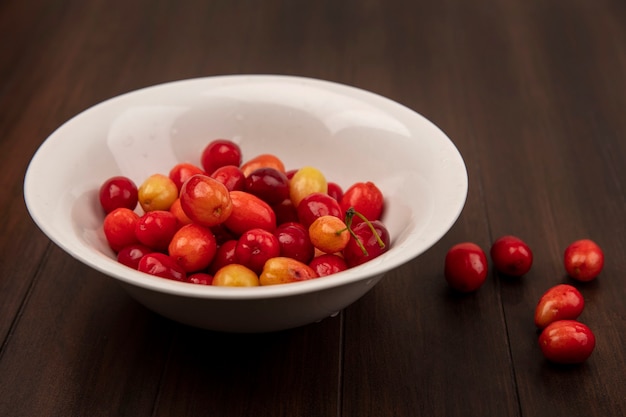
[[557,320],[578,318],[585,307],[585,300],[571,285],[559,284],[546,291],[535,308],[535,325],[543,329]]

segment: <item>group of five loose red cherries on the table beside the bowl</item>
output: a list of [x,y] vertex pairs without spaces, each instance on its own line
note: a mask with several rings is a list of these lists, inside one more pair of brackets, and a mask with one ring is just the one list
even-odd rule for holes
[[[496,239],[489,253],[494,269],[503,276],[522,277],[533,264],[532,250],[517,236]],[[576,240],[565,248],[563,266],[574,281],[593,281],[604,268],[604,252],[593,240]],[[470,293],[485,283],[488,267],[487,255],[479,245],[462,242],[446,253],[444,276],[453,289]],[[534,321],[539,347],[549,361],[577,364],[591,356],[596,337],[578,320],[584,306],[582,293],[565,283],[553,285],[539,299]]]

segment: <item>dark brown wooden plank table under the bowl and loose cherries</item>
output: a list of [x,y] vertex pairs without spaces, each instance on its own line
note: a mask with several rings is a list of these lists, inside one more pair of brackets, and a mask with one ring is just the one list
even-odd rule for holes
[[[623,0],[0,0],[0,416],[625,416]],[[387,96],[456,143],[452,230],[335,318],[242,335],[171,322],[31,221],[26,166],[76,113],[183,78],[293,74]],[[62,164],[63,161],[59,161]],[[447,249],[535,254],[459,296]],[[579,238],[605,269],[574,283]],[[572,283],[597,347],[547,362],[540,295]]]

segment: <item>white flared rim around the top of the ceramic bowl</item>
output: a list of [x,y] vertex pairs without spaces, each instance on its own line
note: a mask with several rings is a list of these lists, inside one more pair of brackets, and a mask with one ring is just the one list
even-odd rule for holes
[[[216,287],[216,286],[205,286],[205,285],[196,285],[185,282],[177,282],[172,281],[160,277],[154,277],[149,274],[145,274],[131,268],[128,268],[122,264],[119,264],[116,260],[106,257],[106,255],[101,254],[102,257],[94,256],[93,249],[86,248],[74,248],[70,247],[70,245],[66,244],[57,234],[55,230],[50,227],[45,221],[41,213],[41,208],[37,205],[35,201],[35,196],[33,195],[33,187],[36,181],[35,178],[35,167],[38,164],[40,158],[44,158],[48,149],[50,149],[54,143],[59,140],[61,137],[64,128],[72,123],[75,119],[83,116],[86,113],[97,112],[102,106],[110,105],[115,101],[124,101],[126,99],[135,98],[147,91],[152,91],[156,89],[176,89],[177,86],[189,83],[199,83],[199,84],[211,84],[211,83],[246,83],[249,81],[274,81],[274,82],[287,82],[287,83],[304,83],[306,85],[319,87],[325,90],[332,90],[333,92],[339,92],[342,94],[358,94],[360,97],[366,97],[370,102],[373,103],[384,103],[387,106],[391,106],[393,108],[401,109],[404,112],[410,112],[413,117],[418,117],[422,120],[423,123],[429,125],[431,129],[437,131],[439,133],[439,137],[447,140],[447,143],[443,144],[446,147],[446,157],[448,161],[452,164],[455,164],[456,167],[456,192],[458,194],[455,195],[453,204],[451,204],[450,209],[447,210],[448,215],[445,225],[441,226],[441,230],[438,235],[434,236],[426,245],[421,247],[421,250],[418,251],[407,251],[405,256],[395,256],[392,260],[384,262],[386,258],[386,254],[383,254],[379,261],[374,263],[367,262],[363,265],[359,265],[353,268],[350,268],[346,271],[339,272],[327,277],[320,277],[312,280],[302,281],[302,282],[294,282],[289,284],[282,285],[272,285],[272,286],[259,286],[259,287]],[[187,78],[182,80],[175,80],[164,82],[160,84],[155,84],[143,88],[139,88],[136,90],[132,90],[126,93],[122,93],[111,98],[108,98],[104,101],[101,101],[91,107],[86,108],[85,110],[77,113],[72,118],[68,119],[66,122],[61,124],[56,130],[54,130],[38,147],[38,149],[33,154],[24,176],[24,200],[26,203],[27,210],[36,223],[36,225],[41,229],[41,231],[57,246],[63,249],[67,254],[77,259],[83,264],[88,265],[89,267],[121,281],[125,284],[130,284],[136,287],[142,287],[145,289],[149,289],[152,291],[158,291],[163,293],[168,293],[172,295],[185,296],[185,297],[194,297],[194,298],[206,298],[206,299],[266,299],[266,298],[276,298],[276,297],[287,297],[294,295],[303,295],[313,292],[318,292],[322,290],[327,290],[334,287],[340,287],[344,285],[350,285],[355,282],[364,281],[364,280],[372,280],[373,278],[384,275],[386,272],[397,268],[400,265],[405,264],[406,262],[411,261],[412,259],[418,257],[420,254],[424,253],[426,250],[430,249],[435,243],[437,243],[454,225],[454,223],[459,218],[468,193],[468,175],[467,175],[467,167],[463,161],[463,158],[456,148],[452,140],[433,122],[425,118],[420,113],[415,110],[399,103],[394,100],[391,100],[387,97],[384,97],[378,93],[365,90],[359,87],[342,84],[334,81],[328,81],[317,78],[296,76],[296,75],[277,75],[277,74],[231,74],[231,75],[216,75],[216,76],[206,76],[206,77],[197,77],[197,78]],[[392,252],[394,247],[390,249],[389,252]],[[387,252],[387,253],[389,253]],[[102,260],[101,258],[106,258]]]

